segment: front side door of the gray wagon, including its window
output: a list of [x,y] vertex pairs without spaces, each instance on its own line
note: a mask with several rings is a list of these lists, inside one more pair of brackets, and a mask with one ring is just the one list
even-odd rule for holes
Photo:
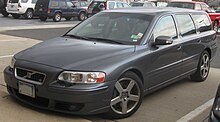
[[150,89],[178,78],[182,74],[181,39],[178,38],[177,27],[173,16],[162,17],[155,26],[151,39],[168,36],[173,39],[170,45],[160,45],[152,48],[149,73]]

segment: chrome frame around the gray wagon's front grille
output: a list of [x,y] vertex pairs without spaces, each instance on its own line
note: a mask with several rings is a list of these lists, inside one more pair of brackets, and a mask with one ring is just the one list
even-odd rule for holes
[[[31,71],[31,72],[34,72],[34,73],[43,74],[43,75],[45,75],[45,77],[44,77],[44,79],[43,79],[42,82],[36,82],[36,81],[33,81],[33,80],[24,79],[24,78],[19,77],[19,76],[17,75],[17,68],[22,69],[22,70]],[[28,82],[28,83],[37,84],[37,85],[42,85],[42,84],[44,83],[46,77],[47,77],[45,73],[37,72],[37,71],[33,71],[33,70],[29,70],[29,69],[21,68],[21,67],[16,67],[15,70],[14,70],[14,72],[15,72],[15,73],[14,73],[14,74],[15,74],[15,77],[16,77],[18,80],[25,81],[25,82]]]

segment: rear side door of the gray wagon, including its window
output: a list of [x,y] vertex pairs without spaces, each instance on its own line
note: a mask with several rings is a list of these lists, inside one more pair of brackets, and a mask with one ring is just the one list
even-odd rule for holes
[[175,15],[179,35],[182,39],[182,59],[183,59],[183,69],[184,73],[190,73],[196,69],[198,64],[198,59],[200,57],[201,51],[204,48],[201,44],[201,39],[196,32],[195,24],[190,16],[190,14],[177,14]]

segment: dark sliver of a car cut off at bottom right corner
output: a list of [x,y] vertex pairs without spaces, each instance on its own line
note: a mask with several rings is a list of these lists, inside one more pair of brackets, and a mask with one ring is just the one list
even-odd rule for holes
[[220,85],[209,116],[209,122],[220,122]]

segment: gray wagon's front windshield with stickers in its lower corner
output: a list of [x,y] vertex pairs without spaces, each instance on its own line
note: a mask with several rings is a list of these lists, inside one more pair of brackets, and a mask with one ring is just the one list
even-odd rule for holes
[[112,40],[122,44],[138,44],[152,19],[153,16],[146,14],[103,12],[82,22],[66,35],[103,42]]

